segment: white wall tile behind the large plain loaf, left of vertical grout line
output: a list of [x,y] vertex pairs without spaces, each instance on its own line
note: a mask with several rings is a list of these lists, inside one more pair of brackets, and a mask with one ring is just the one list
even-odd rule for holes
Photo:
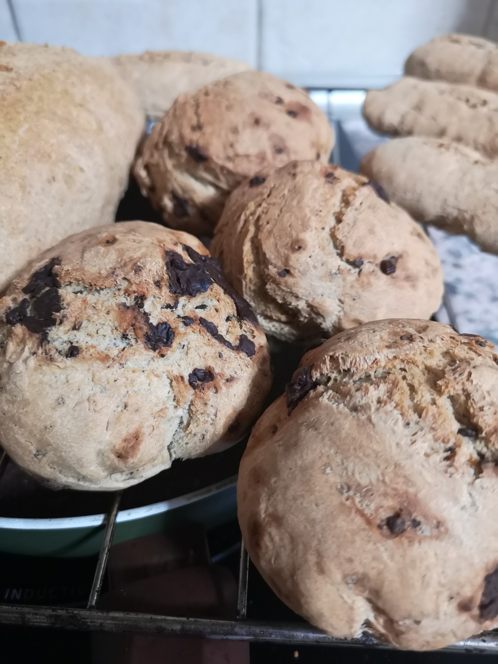
[[256,64],[256,0],[14,1],[25,41],[87,55],[199,50]]

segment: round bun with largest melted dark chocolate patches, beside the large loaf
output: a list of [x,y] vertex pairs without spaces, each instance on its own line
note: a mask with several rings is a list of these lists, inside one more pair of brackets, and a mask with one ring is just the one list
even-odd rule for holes
[[120,489],[239,440],[270,386],[254,312],[196,238],[66,238],[0,299],[0,440],[36,477]]

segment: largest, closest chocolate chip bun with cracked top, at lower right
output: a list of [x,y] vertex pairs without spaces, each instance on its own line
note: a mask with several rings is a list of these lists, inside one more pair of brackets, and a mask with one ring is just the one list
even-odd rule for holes
[[244,544],[313,625],[410,649],[498,626],[494,350],[440,323],[367,323],[307,353],[254,427]]

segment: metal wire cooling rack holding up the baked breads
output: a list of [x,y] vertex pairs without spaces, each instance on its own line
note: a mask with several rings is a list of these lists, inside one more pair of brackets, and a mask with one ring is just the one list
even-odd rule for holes
[[[354,93],[354,94],[353,94]],[[331,123],[335,125],[338,137],[340,126],[331,108],[331,96],[334,91],[314,91],[311,96],[322,106]],[[361,104],[361,91],[349,93],[351,106]],[[323,103],[320,103],[322,100]],[[340,153],[340,141],[335,149],[334,161],[349,168],[353,166],[344,163]],[[427,229],[426,229],[426,232]],[[428,232],[429,234],[429,232]],[[456,316],[448,290],[445,289],[442,307],[439,316],[449,321],[457,329]],[[9,458],[5,452],[0,452],[0,481],[5,473]],[[316,627],[305,622],[275,622],[272,620],[248,620],[247,596],[249,583],[248,554],[241,544],[238,598],[236,620],[210,620],[203,618],[177,618],[175,616],[159,616],[135,612],[104,611],[97,608],[98,598],[102,590],[104,575],[112,546],[116,518],[120,510],[122,491],[112,495],[112,504],[106,514],[106,525],[102,546],[98,556],[94,579],[86,608],[65,608],[60,606],[23,606],[0,604],[0,623],[7,625],[24,625],[31,627],[55,627],[58,629],[76,629],[90,631],[132,631],[153,633],[164,636],[203,637],[211,639],[230,639],[234,641],[269,641],[271,643],[290,643],[293,645],[342,645],[351,647],[376,646],[388,648],[389,646],[377,641],[368,631],[363,632],[354,639],[343,639],[329,636]],[[465,639],[451,645],[445,650],[472,651],[498,654],[498,631],[483,632],[480,635]]]

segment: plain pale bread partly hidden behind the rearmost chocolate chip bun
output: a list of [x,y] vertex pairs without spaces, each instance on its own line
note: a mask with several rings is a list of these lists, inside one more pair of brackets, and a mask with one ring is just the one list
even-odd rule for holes
[[149,118],[159,120],[182,92],[250,69],[241,60],[181,50],[147,50],[110,58]]

